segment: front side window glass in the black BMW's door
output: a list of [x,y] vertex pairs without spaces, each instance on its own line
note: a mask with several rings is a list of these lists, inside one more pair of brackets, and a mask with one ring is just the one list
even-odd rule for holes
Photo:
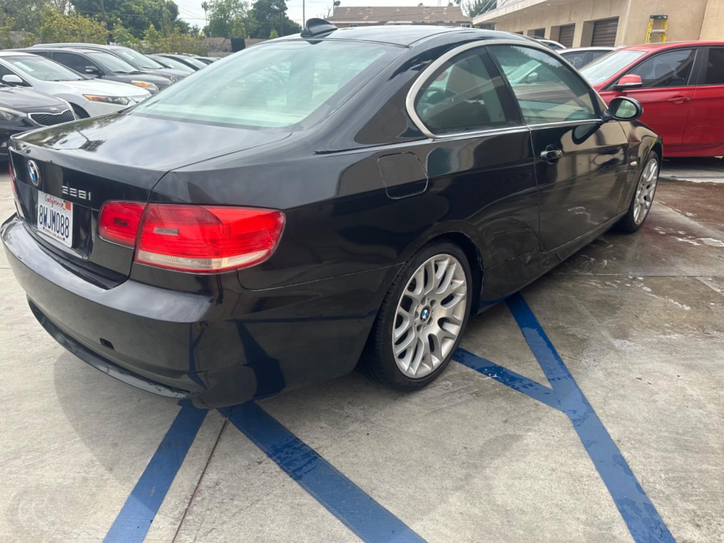
[[598,117],[589,86],[555,56],[521,46],[492,46],[490,50],[529,124]]

